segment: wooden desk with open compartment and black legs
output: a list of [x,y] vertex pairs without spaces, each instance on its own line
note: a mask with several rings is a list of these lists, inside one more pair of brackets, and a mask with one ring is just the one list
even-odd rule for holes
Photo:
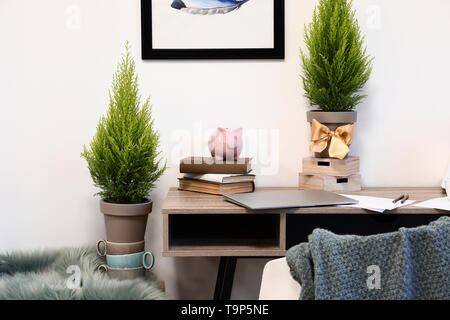
[[[289,190],[295,188],[260,188]],[[411,200],[444,197],[440,188],[368,188],[351,194]],[[350,193],[349,193],[350,194]],[[282,257],[315,228],[338,234],[369,235],[415,227],[447,211],[406,206],[379,214],[349,207],[252,211],[221,196],[169,190],[163,209],[164,257],[221,257],[215,299],[229,299],[238,257]]]

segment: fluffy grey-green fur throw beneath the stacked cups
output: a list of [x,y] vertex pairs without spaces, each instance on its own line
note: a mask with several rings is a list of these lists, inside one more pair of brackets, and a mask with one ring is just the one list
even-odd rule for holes
[[162,300],[157,279],[119,281],[97,271],[95,248],[0,254],[0,300]]

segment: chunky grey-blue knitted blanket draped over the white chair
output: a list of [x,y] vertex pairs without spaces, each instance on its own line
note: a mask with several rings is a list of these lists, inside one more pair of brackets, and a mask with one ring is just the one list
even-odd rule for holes
[[372,236],[316,229],[289,249],[300,299],[450,299],[450,218]]

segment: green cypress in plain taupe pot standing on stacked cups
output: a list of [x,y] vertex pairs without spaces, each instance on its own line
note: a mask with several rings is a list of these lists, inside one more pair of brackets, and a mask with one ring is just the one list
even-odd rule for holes
[[139,95],[135,62],[127,42],[126,52],[113,77],[109,109],[100,118],[97,132],[84,146],[92,180],[100,188],[100,209],[105,217],[108,241],[144,240],[149,192],[166,170],[158,160],[159,133],[154,129],[150,99]]

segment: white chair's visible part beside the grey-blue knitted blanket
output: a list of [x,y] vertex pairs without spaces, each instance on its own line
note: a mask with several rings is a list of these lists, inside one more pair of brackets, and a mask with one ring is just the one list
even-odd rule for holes
[[268,262],[264,267],[259,300],[298,300],[301,287],[289,271],[286,258]]

